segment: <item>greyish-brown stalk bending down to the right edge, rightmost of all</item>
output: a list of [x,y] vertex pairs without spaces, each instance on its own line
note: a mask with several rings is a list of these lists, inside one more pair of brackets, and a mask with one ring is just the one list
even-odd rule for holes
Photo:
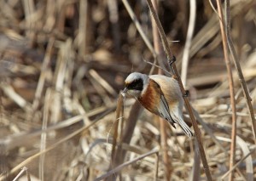
[[237,74],[239,77],[239,81],[241,83],[242,93],[247,102],[247,109],[250,114],[250,118],[251,118],[251,122],[252,122],[254,143],[256,144],[256,122],[255,122],[255,116],[254,116],[254,112],[253,112],[252,98],[249,95],[247,84],[244,80],[244,76],[241,71],[239,59],[236,54],[236,50],[234,48],[234,44],[233,44],[231,33],[230,33],[230,0],[225,1],[225,17],[226,17],[226,19],[225,19],[226,20],[226,34],[227,34],[227,38],[228,38],[227,42],[228,42],[228,46],[230,48],[230,54],[232,56],[235,66],[236,66],[236,71],[237,71]]

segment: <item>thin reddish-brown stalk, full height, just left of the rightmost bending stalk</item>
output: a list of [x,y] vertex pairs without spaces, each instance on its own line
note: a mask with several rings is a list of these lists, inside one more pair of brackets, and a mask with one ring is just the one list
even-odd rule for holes
[[[221,3],[218,0],[217,1],[218,6],[218,16],[219,18],[219,26],[221,31],[221,37],[223,42],[223,48],[224,48],[224,60],[225,65],[228,71],[228,78],[229,78],[229,88],[230,88],[230,103],[232,108],[232,133],[231,133],[231,145],[230,145],[230,168],[234,166],[235,162],[235,155],[236,155],[236,99],[235,99],[235,91],[234,91],[234,82],[233,82],[233,76],[232,76],[232,69],[230,65],[230,59],[229,59],[229,49],[228,49],[228,43],[227,43],[227,37],[224,30],[224,15],[221,8]],[[233,172],[230,173],[229,180],[233,180]]]

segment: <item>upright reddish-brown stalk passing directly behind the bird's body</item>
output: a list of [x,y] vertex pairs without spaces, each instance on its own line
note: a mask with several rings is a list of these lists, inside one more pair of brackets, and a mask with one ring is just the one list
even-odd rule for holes
[[[158,12],[158,4],[156,0],[153,0],[153,6],[156,12]],[[153,40],[154,40],[154,50],[157,56],[160,57],[159,61],[162,61],[161,59],[165,52],[163,50],[163,47],[161,46],[160,42],[160,36],[159,32],[157,30],[157,26],[155,24],[155,21],[151,17],[152,22],[152,31],[153,31]],[[163,74],[163,71],[161,69],[158,70],[158,74]],[[166,120],[159,118],[160,121],[160,145],[163,150],[163,161],[164,161],[164,168],[166,173],[166,180],[170,180],[172,175],[172,162],[170,161],[170,156],[168,155],[168,145],[167,145],[167,135],[166,135]]]

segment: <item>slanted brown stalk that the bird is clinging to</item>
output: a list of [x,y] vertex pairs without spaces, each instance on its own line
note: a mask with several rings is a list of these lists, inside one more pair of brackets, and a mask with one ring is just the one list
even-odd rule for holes
[[[162,25],[160,24],[160,20],[159,20],[159,17],[158,15],[156,14],[155,10],[154,10],[154,7],[153,7],[153,4],[151,3],[150,0],[147,0],[148,2],[148,7],[154,17],[154,20],[156,22],[156,25],[158,27],[158,30],[160,31],[160,37],[161,37],[161,41],[163,42],[163,46],[164,46],[164,49],[166,51],[166,55],[167,55],[167,58],[169,60],[172,60],[173,59],[173,54],[172,54],[172,51],[171,51],[171,48],[167,42],[167,38],[166,38],[166,34],[165,34],[165,31],[163,30],[163,27]],[[183,93],[183,95],[186,94],[184,88],[183,88],[183,83],[180,79],[180,76],[178,74],[178,71],[177,71],[177,67],[175,64],[172,64],[172,69],[174,71],[174,74],[177,76],[177,81],[179,82],[179,86],[180,86],[180,89],[181,89],[181,92]],[[195,121],[195,116],[193,114],[193,110],[191,108],[191,105],[189,104],[189,99],[187,97],[183,97],[184,99],[184,102],[185,102],[185,105],[186,105],[186,108],[189,112],[189,116],[190,116],[190,119],[192,121],[192,125],[194,127],[194,130],[195,130],[195,137],[197,139],[197,142],[198,142],[198,147],[199,147],[199,151],[201,153],[201,161],[202,161],[202,164],[203,164],[203,167],[204,167],[204,171],[207,175],[207,179],[208,180],[212,180],[212,175],[210,173],[210,170],[209,170],[209,166],[208,166],[208,162],[207,162],[207,156],[206,156],[206,153],[205,153],[205,150],[203,148],[203,145],[202,145],[202,141],[201,141],[201,132],[200,132],[200,129],[197,125],[197,122]]]

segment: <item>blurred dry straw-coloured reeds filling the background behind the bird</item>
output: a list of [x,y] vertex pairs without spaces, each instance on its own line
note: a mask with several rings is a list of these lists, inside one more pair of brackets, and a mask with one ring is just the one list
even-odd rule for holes
[[[195,139],[185,137],[179,127],[160,126],[159,118],[134,105],[134,99],[125,99],[122,110],[119,91],[125,76],[131,71],[148,74],[152,65],[146,61],[155,58],[147,1],[129,3],[149,48],[125,2],[0,1],[0,180],[207,179]],[[159,4],[179,71],[188,2]],[[186,88],[199,113],[212,179],[220,180],[230,170],[230,143],[235,143],[230,90],[218,15],[208,1],[198,1],[196,8]],[[233,42],[256,112],[256,3],[231,1],[230,14]],[[232,178],[253,180],[252,122],[231,56],[230,61],[236,100]],[[165,58],[163,62],[162,67]],[[191,126],[185,109],[184,116]]]

